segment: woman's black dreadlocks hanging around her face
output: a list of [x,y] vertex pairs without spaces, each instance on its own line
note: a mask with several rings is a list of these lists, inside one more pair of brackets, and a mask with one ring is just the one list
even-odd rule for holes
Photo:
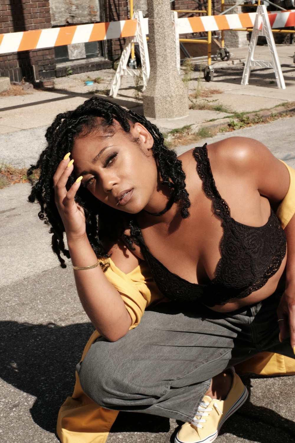
[[[185,189],[182,163],[176,158],[174,151],[170,151],[164,146],[164,137],[157,126],[150,123],[145,117],[127,111],[112,101],[92,97],[77,109],[57,115],[46,131],[47,147],[41,153],[37,163],[31,165],[27,172],[32,185],[29,202],[39,202],[41,206],[38,213],[39,218],[51,225],[49,232],[52,234],[52,249],[57,254],[62,268],[65,268],[66,265],[61,253],[67,258],[70,257],[64,243],[65,228],[54,202],[54,173],[64,155],[71,152],[77,136],[86,136],[92,131],[102,135],[113,135],[115,133],[114,120],[119,122],[127,134],[130,133],[130,123],[134,124],[135,122],[141,123],[150,132],[154,140],[152,151],[160,173],[161,183],[172,191],[168,206],[171,207],[172,203],[180,202],[181,216],[183,218],[189,216],[190,201]],[[34,175],[38,175],[39,178],[34,179]],[[69,185],[72,185],[74,180],[72,173],[69,177]],[[123,235],[126,223],[130,226],[131,238],[136,237],[137,228],[135,228],[130,214],[125,214],[99,202],[83,187],[79,188],[75,200],[85,211],[88,239],[99,258],[108,257],[101,241],[103,239],[117,240]],[[132,240],[125,237],[125,241],[128,242],[131,249],[134,249]]]

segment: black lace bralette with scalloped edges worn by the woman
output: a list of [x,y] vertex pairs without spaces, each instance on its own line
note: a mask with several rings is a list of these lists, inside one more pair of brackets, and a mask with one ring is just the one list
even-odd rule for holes
[[212,212],[223,229],[215,278],[208,284],[196,284],[170,272],[149,252],[138,227],[134,230],[135,242],[149,264],[153,280],[166,297],[175,301],[199,300],[212,307],[247,297],[262,288],[280,268],[286,254],[286,237],[272,210],[267,223],[260,227],[243,225],[231,218],[230,208],[215,186],[207,144],[195,148],[193,156],[203,192],[211,199]]

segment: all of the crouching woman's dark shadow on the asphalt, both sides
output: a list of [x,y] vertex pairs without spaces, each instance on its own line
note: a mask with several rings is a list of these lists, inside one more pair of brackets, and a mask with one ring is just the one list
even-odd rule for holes
[[[91,323],[57,326],[54,323],[0,322],[0,377],[36,397],[31,416],[46,431],[55,433],[58,410],[73,392],[75,365],[92,332]],[[244,376],[243,381],[250,388],[250,377]],[[279,405],[277,411],[280,411]],[[168,418],[122,412],[111,433],[115,438],[119,432],[158,433],[169,430]],[[176,431],[171,435],[171,442]],[[295,441],[294,421],[284,419],[279,412],[269,408],[255,406],[249,400],[226,421],[219,438],[226,432],[260,443]],[[224,437],[227,438],[226,435]],[[230,436],[224,441],[231,441]]]

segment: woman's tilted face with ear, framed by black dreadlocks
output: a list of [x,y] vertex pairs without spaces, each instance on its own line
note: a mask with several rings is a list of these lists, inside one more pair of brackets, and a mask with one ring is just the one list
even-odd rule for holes
[[92,132],[75,140],[74,173],[83,175],[81,186],[115,209],[130,214],[142,209],[153,212],[163,203],[157,203],[158,174],[152,146],[153,137],[142,124],[135,123],[126,133],[115,122],[113,136]]

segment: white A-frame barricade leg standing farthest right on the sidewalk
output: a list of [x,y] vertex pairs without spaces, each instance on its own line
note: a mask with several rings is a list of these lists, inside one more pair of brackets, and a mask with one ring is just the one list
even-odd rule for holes
[[[257,39],[259,36],[266,37],[266,41],[268,44],[268,49],[270,51],[272,61],[263,61],[263,60],[254,60],[254,52],[257,45]],[[282,69],[280,66],[280,60],[278,57],[278,53],[276,51],[276,44],[272,35],[272,28],[269,23],[268,13],[266,7],[264,5],[257,6],[257,14],[255,17],[255,22],[253,25],[253,31],[251,35],[251,40],[249,44],[249,51],[245,63],[245,68],[243,72],[243,77],[241,81],[241,85],[248,85],[249,75],[251,68],[253,67],[266,67],[272,68],[276,75],[276,82],[278,88],[285,89],[285,82],[282,73]]]

